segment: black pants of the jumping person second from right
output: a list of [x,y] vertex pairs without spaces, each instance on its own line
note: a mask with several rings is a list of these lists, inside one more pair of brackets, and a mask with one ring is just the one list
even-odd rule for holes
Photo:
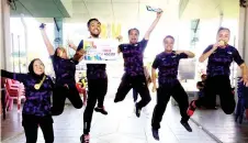
[[188,120],[190,119],[187,114],[189,99],[181,84],[177,80],[174,84],[159,85],[159,88],[157,89],[157,105],[154,108],[151,119],[151,127],[154,129],[160,128],[160,122],[162,120],[162,116],[166,111],[170,96],[172,96],[179,105],[180,114],[182,117],[181,120],[188,122]]

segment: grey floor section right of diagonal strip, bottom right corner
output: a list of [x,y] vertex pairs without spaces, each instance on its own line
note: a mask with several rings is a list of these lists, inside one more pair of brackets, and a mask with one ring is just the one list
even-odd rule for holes
[[198,111],[192,118],[224,143],[248,143],[248,122],[236,123],[234,116],[219,110]]

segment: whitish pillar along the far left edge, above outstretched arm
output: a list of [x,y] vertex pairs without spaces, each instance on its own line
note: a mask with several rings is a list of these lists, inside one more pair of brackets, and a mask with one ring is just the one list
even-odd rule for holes
[[0,9],[0,46],[1,46],[1,68],[12,72],[11,38],[10,38],[10,7],[7,0],[1,0]]

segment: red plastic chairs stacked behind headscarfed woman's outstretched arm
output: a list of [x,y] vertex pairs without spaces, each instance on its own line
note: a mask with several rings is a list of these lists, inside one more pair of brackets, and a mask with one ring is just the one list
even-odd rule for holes
[[20,112],[22,99],[25,99],[24,85],[13,79],[7,79],[7,82],[5,82],[7,109],[12,110],[13,101],[18,100],[18,112]]

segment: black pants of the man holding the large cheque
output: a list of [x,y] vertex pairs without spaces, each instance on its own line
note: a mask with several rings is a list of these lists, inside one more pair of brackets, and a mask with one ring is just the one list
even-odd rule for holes
[[87,107],[83,113],[83,133],[88,134],[90,132],[91,120],[93,116],[93,109],[98,101],[98,107],[102,108],[104,98],[108,90],[108,79],[88,79],[88,100]]

